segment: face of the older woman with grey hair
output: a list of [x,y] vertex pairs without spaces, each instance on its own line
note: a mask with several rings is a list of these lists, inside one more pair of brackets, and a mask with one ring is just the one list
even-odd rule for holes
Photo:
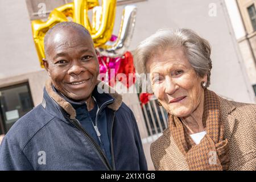
[[158,51],[147,63],[151,86],[158,101],[168,113],[188,117],[204,100],[201,78],[192,68],[184,49],[169,48]]

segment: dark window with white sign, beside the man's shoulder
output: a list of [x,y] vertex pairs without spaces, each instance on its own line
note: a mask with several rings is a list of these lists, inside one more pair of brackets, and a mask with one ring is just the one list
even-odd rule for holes
[[28,83],[0,88],[0,106],[0,132],[7,133],[34,107]]

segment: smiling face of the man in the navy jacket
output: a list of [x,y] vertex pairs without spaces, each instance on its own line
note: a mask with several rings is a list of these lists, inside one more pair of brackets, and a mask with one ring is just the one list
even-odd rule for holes
[[99,73],[90,36],[75,28],[55,30],[48,39],[46,51],[44,67],[55,88],[72,100],[87,100]]

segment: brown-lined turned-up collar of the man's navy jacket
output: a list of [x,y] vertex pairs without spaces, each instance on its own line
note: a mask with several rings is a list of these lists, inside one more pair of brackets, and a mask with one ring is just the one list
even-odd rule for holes
[[[53,90],[51,79],[46,81],[46,92],[49,97],[56,102],[56,104],[62,107],[70,115],[71,119],[76,118],[76,110],[68,101]],[[108,107],[112,110],[118,110],[122,104],[122,96],[108,84],[105,84],[105,82],[100,80],[97,81],[97,86],[94,88],[92,95],[96,98],[99,107],[106,101],[110,100],[114,100],[112,104],[108,105]]]

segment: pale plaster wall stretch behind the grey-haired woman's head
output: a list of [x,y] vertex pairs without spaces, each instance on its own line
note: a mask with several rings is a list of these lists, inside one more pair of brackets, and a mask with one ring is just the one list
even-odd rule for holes
[[[209,5],[216,5],[216,16],[209,16]],[[148,0],[136,3],[137,21],[130,50],[159,28],[191,28],[212,46],[213,69],[210,89],[240,102],[254,102],[253,88],[230,23],[225,2],[221,0]],[[118,7],[117,16],[122,7]],[[119,25],[120,17],[115,24]],[[118,26],[114,32],[118,32]]]

